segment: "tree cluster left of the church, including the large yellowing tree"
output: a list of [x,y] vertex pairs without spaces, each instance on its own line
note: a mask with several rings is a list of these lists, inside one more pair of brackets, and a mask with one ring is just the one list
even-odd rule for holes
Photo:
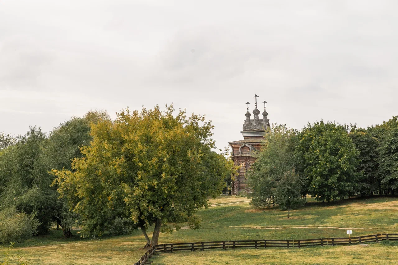
[[[148,245],[151,226],[152,244],[178,222],[198,228],[195,211],[220,194],[234,166],[213,151],[211,121],[173,113],[173,106],[126,109],[112,121],[94,111],[48,136],[37,127],[16,139],[2,134],[1,212],[25,214],[30,234],[45,234],[55,223],[65,237],[73,226],[84,237],[140,229]],[[2,238],[12,233],[1,229],[2,242],[29,234]]]

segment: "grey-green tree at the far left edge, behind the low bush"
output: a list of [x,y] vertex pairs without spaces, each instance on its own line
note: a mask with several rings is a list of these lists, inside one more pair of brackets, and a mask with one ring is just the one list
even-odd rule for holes
[[0,208],[16,208],[35,216],[40,225],[39,234],[45,234],[52,222],[57,193],[49,189],[49,158],[45,133],[37,127],[18,136],[17,143],[2,151],[0,156]]

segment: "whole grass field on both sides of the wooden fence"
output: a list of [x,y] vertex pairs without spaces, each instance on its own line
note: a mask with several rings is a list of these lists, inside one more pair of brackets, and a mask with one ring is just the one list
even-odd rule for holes
[[[211,200],[212,207],[198,212],[202,219],[200,230],[181,229],[161,234],[159,243],[345,237],[346,228],[353,230],[352,236],[398,232],[398,197],[349,199],[330,204],[309,200],[306,206],[291,211],[289,219],[287,212],[278,208],[253,209],[244,201],[247,199],[233,196]],[[218,204],[223,205],[215,206]],[[47,236],[16,244],[15,250],[23,249],[24,258],[35,264],[60,265],[131,264],[146,251],[142,248],[145,240],[139,231],[130,236],[101,239],[77,236],[60,239],[61,234],[53,230]],[[247,264],[248,257],[254,259],[250,264],[396,264],[398,246],[181,251],[161,254],[151,261],[159,265]]]

